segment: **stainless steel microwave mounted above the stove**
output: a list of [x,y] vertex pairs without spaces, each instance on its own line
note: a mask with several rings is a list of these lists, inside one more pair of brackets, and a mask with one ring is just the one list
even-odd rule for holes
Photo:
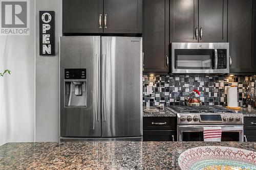
[[173,74],[229,73],[229,43],[172,43]]

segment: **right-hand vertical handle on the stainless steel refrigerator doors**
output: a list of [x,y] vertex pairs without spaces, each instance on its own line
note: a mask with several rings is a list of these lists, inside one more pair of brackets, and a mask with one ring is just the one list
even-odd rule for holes
[[102,54],[102,74],[101,74],[101,82],[102,82],[102,121],[105,122],[105,58],[106,55]]

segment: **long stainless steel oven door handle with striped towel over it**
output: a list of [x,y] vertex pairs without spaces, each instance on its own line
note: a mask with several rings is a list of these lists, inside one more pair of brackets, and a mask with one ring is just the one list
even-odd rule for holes
[[[207,126],[206,126],[207,127]],[[222,126],[215,126],[215,127],[221,127],[222,132],[226,131],[243,131],[243,126],[228,126],[228,127],[222,127]],[[179,131],[183,132],[203,132],[204,127],[191,127],[191,126],[182,126],[179,127]]]

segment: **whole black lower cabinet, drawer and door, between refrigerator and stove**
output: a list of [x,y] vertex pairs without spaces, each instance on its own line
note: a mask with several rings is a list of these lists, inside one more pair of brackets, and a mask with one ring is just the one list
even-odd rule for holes
[[177,141],[176,117],[143,117],[143,141]]

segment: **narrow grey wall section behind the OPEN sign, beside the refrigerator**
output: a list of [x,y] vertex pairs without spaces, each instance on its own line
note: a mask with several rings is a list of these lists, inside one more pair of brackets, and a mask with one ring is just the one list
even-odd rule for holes
[[[35,141],[59,137],[59,37],[62,35],[62,0],[36,0]],[[55,11],[54,57],[39,56],[39,11]]]

